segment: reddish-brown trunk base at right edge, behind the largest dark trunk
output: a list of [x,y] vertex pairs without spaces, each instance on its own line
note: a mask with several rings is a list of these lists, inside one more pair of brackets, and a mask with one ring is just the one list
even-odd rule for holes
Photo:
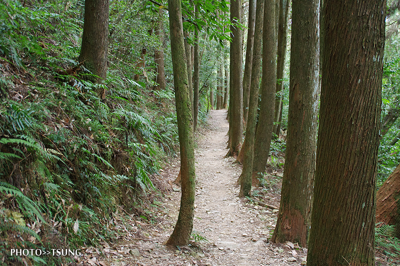
[[376,222],[395,226],[395,237],[400,239],[400,164],[376,194]]

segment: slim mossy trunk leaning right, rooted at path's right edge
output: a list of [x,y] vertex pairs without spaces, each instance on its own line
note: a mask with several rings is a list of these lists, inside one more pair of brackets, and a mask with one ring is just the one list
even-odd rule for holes
[[[252,54],[252,69],[250,80],[250,93],[248,105],[248,119],[246,126],[246,137],[243,145],[243,170],[239,177],[240,192],[239,197],[250,196],[251,179],[253,169],[253,151],[254,151],[254,135],[255,121],[257,116],[257,100],[259,89],[259,74],[261,66],[261,47],[262,47],[262,26],[263,26],[264,1],[258,0],[255,9],[255,26],[254,26],[254,47]],[[248,45],[248,42],[247,42]],[[242,151],[240,151],[242,153]]]

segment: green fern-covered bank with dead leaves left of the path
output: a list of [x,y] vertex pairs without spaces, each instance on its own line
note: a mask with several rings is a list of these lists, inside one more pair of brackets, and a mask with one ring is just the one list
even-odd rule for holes
[[113,241],[116,206],[150,219],[152,175],[177,151],[173,91],[134,80],[116,57],[104,82],[86,81],[80,1],[0,0],[0,10],[0,262],[68,264],[10,249]]

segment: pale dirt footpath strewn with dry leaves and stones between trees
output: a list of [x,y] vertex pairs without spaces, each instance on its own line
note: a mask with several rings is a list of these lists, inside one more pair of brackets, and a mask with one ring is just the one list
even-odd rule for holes
[[[196,159],[196,198],[193,242],[186,247],[165,247],[173,231],[180,204],[175,185],[179,161],[167,164],[155,176],[162,197],[152,205],[153,219],[120,220],[114,215],[120,236],[114,243],[101,243],[83,250],[79,264],[101,266],[286,266],[305,265],[306,249],[295,243],[268,243],[276,224],[277,210],[240,200],[236,185],[241,167],[224,158],[228,123],[225,110],[211,111],[207,129],[200,132]],[[282,172],[267,175],[263,189],[253,198],[279,206]],[[255,203],[255,204],[254,204]],[[123,210],[121,210],[123,212]],[[390,265],[376,254],[376,265]]]

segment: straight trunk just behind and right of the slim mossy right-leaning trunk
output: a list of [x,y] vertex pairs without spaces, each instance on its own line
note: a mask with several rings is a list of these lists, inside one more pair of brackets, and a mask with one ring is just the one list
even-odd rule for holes
[[276,88],[275,1],[265,0],[262,32],[261,106],[254,141],[253,172],[264,173],[273,129]]

